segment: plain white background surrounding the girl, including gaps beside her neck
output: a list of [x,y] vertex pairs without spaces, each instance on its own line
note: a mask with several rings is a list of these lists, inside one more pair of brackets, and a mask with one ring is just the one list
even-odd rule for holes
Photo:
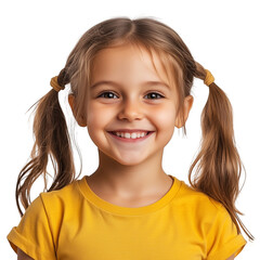
[[[1,259],[16,259],[6,235],[18,224],[15,185],[20,170],[32,147],[32,118],[27,109],[50,90],[50,79],[64,67],[81,35],[93,25],[116,16],[151,16],[172,27],[184,40],[194,58],[208,68],[216,83],[229,96],[234,112],[236,145],[246,168],[247,179],[237,199],[245,213],[242,220],[256,240],[248,242],[236,259],[256,259],[259,249],[259,8],[258,1],[3,1],[1,26]],[[67,91],[60,101],[69,118]],[[187,183],[187,172],[200,140],[200,114],[208,88],[195,79],[195,98],[186,122],[187,138],[176,130],[166,146],[164,169]],[[70,119],[68,119],[70,120]],[[87,129],[76,134],[83,157],[80,177],[98,166],[98,151]],[[77,157],[78,158],[78,157]],[[78,159],[76,159],[77,170]],[[245,172],[242,176],[242,182]],[[42,192],[38,182],[31,200]],[[244,234],[244,237],[246,235]]]

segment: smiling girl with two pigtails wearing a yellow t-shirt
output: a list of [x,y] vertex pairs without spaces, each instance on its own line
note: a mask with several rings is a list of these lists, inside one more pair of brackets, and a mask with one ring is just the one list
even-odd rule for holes
[[[174,127],[186,134],[194,77],[209,96],[188,186],[161,160]],[[23,218],[8,235],[18,259],[234,259],[246,244],[240,227],[253,237],[235,207],[242,161],[232,107],[213,81],[158,21],[118,17],[90,28],[38,103],[31,160],[16,185]],[[68,83],[73,114],[99,150],[98,169],[80,180],[57,96]],[[47,183],[49,156],[54,181],[30,204],[35,180]]]

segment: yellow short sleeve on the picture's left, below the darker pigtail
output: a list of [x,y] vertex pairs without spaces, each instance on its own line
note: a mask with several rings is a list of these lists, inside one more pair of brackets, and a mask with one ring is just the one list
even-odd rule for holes
[[32,259],[56,259],[52,232],[41,195],[29,205],[20,224],[11,230],[6,238],[16,253],[18,247]]

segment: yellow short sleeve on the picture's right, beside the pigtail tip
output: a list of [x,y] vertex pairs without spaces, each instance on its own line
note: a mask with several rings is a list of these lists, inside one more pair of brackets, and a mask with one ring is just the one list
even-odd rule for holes
[[245,245],[246,240],[238,234],[227,210],[220,208],[207,237],[207,259],[227,259],[232,255],[236,257]]

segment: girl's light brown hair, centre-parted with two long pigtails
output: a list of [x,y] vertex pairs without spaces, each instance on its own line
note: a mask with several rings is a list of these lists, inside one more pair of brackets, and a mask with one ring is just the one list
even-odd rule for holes
[[[60,86],[70,83],[70,94],[75,96],[75,117],[86,119],[83,112],[87,86],[91,81],[91,68],[96,54],[106,48],[127,43],[144,48],[153,64],[153,52],[159,55],[169,82],[176,88],[177,112],[184,118],[183,101],[191,93],[194,77],[204,80],[206,70],[194,61],[187,47],[172,28],[151,17],[110,18],[94,25],[81,36],[57,76]],[[54,180],[48,192],[72,183],[76,174],[69,133],[57,92],[51,89],[34,105],[36,104],[31,159],[21,170],[16,183],[16,204],[21,217],[23,212],[18,199],[25,209],[29,206],[31,185],[41,174],[47,190],[49,156],[54,168]],[[186,135],[185,121],[183,122]],[[237,232],[240,233],[240,225],[249,239],[253,239],[238,217],[238,213],[243,213],[235,207],[244,166],[235,146],[232,106],[225,93],[214,82],[209,86],[208,100],[202,113],[202,130],[200,151],[190,168],[188,181],[193,188],[221,203],[229,211]],[[192,180],[192,171],[196,165]],[[22,184],[23,178],[25,181]]]

